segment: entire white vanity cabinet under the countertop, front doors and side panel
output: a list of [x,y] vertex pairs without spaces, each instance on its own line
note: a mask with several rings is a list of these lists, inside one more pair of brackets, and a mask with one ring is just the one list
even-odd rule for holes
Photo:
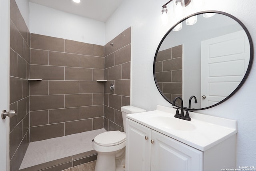
[[[132,118],[131,115],[129,117]],[[151,125],[145,125],[126,118],[126,171],[213,171],[236,168],[234,133],[210,147],[197,149],[193,144],[187,145],[190,141],[178,141],[172,135],[154,130],[156,127],[151,129]],[[221,129],[224,132],[227,128]],[[227,130],[233,132],[232,129]],[[182,132],[179,133],[182,136]],[[218,130],[214,131],[214,134],[219,133]],[[195,132],[190,135],[199,142],[212,139],[213,136],[203,134],[204,139],[195,139],[198,137]]]

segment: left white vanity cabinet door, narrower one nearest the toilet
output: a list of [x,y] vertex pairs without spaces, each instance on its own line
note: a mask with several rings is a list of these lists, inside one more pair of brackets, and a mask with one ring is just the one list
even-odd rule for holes
[[126,171],[150,171],[151,129],[126,118]]

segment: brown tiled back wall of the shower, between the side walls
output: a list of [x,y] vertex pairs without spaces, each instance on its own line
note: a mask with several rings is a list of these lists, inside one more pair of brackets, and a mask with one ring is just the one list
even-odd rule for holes
[[31,34],[30,142],[104,126],[104,46]]

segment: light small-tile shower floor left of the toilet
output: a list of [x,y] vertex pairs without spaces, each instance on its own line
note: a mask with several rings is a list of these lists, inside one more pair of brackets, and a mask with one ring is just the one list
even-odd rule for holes
[[92,139],[104,128],[29,143],[20,169],[93,150]]

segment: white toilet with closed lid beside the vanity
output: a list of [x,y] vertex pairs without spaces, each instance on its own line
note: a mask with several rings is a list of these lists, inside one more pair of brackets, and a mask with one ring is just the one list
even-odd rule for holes
[[124,132],[108,131],[97,135],[93,148],[98,152],[95,171],[124,171],[126,114],[140,113],[146,110],[134,106],[121,107]]

